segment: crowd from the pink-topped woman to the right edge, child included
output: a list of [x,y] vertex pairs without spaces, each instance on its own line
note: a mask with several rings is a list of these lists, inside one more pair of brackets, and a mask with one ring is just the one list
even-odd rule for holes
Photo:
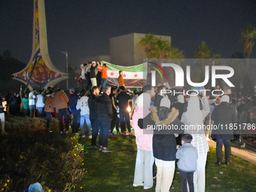
[[[195,92],[190,96],[160,94],[165,93],[160,91],[164,89],[160,86],[154,91],[154,87],[145,86],[136,99],[133,128],[138,149],[133,186],[144,186],[145,189],[153,186],[152,166],[155,162],[155,190],[169,191],[172,188],[175,160],[178,159],[182,190],[205,191],[209,151],[207,140],[216,142],[218,166],[222,163],[224,145],[224,160],[229,166],[230,140],[239,134],[232,128],[233,124],[246,122],[246,112],[248,108],[256,107],[256,100],[254,97],[235,99],[228,95],[211,96],[208,92],[205,95]],[[163,129],[163,125],[175,129]],[[222,129],[223,126],[227,126],[227,129]]]

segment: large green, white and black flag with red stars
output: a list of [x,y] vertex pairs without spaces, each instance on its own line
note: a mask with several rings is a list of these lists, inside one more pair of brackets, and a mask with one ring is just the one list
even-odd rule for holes
[[143,87],[143,76],[146,77],[143,69],[144,63],[137,66],[117,66],[109,62],[102,61],[108,68],[108,80],[112,81],[118,87],[119,71],[123,71],[123,81],[125,87]]

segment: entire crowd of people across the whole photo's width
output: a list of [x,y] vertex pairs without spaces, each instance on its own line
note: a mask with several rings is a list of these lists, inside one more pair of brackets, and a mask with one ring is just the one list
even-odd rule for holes
[[[207,139],[216,141],[216,164],[222,163],[222,146],[225,148],[225,164],[230,165],[230,140],[232,129],[202,129],[207,125],[243,123],[248,106],[256,106],[254,98],[241,99],[230,96],[211,96],[190,93],[173,96],[161,90],[164,86],[145,85],[141,91],[126,92],[122,72],[118,86],[109,86],[106,65],[89,62],[81,65],[82,89],[66,93],[63,90],[32,90],[30,93],[8,93],[6,113],[28,117],[46,117],[46,131],[50,130],[52,117],[59,119],[59,132],[81,132],[81,139],[91,139],[91,147],[102,152],[111,152],[108,138],[111,135],[136,137],[137,157],[133,186],[153,187],[156,191],[169,191],[175,172],[175,160],[181,176],[183,191],[205,191],[206,159],[209,151]],[[101,72],[102,81],[96,81]],[[2,134],[5,132],[5,111],[0,96]],[[231,101],[231,102],[230,102]],[[132,109],[132,112],[128,108]],[[132,127],[130,124],[132,117]],[[84,126],[86,124],[86,126]],[[163,125],[175,129],[160,129]],[[204,125],[204,126],[203,126]],[[65,127],[64,127],[65,126]],[[182,126],[194,129],[182,129]],[[158,127],[158,128],[155,128]],[[211,126],[209,126],[211,127]],[[84,128],[87,128],[84,130]],[[114,132],[114,128],[116,132]],[[97,138],[99,136],[99,143]],[[154,163],[157,166],[155,175]]]

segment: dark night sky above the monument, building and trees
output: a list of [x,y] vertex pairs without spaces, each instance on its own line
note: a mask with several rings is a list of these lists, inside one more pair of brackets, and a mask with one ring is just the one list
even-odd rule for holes
[[[61,71],[83,58],[109,54],[109,38],[132,32],[170,35],[186,58],[206,41],[213,54],[242,52],[239,33],[256,26],[256,1],[68,1],[45,0],[50,58]],[[32,0],[0,1],[0,55],[5,49],[22,62],[32,52]],[[125,46],[125,44],[123,44]],[[251,58],[256,58],[256,47]]]

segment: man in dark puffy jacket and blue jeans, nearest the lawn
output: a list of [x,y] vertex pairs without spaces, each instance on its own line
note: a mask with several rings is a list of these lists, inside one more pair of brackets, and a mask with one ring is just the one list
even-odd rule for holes
[[110,136],[111,120],[113,118],[112,103],[109,95],[111,87],[105,87],[102,96],[96,99],[95,108],[99,122],[99,145],[102,152],[111,152],[108,148],[108,137]]

